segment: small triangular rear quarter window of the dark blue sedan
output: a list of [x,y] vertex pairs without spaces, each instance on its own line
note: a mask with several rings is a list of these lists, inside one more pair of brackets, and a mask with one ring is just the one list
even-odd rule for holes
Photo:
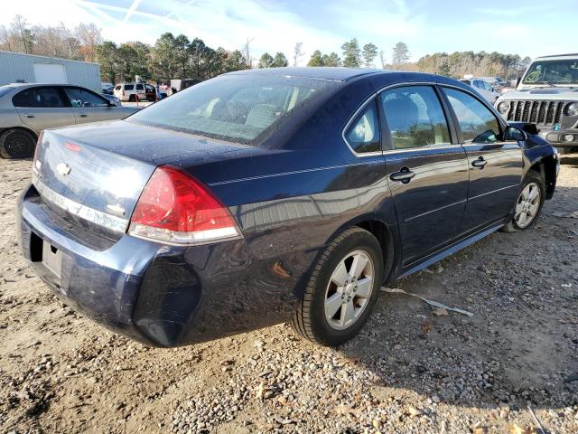
[[345,139],[358,154],[381,150],[378,109],[372,100],[361,110],[345,132]]

